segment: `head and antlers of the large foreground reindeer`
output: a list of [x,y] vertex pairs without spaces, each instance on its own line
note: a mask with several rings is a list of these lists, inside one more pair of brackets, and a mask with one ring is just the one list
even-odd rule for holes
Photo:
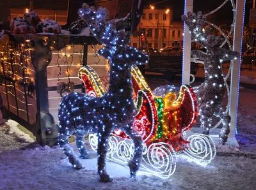
[[128,47],[132,35],[131,14],[116,22],[108,20],[108,9],[100,6],[95,10],[93,6],[88,6],[86,3],[78,13],[90,27],[93,36],[104,45],[104,48],[99,50],[99,54],[109,59],[111,64],[115,62],[122,68],[148,62],[148,55]]

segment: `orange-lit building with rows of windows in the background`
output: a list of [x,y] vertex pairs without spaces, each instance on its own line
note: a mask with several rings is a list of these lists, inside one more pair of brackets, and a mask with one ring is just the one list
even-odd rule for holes
[[131,38],[140,48],[182,47],[183,22],[173,22],[172,10],[145,9],[141,23]]

